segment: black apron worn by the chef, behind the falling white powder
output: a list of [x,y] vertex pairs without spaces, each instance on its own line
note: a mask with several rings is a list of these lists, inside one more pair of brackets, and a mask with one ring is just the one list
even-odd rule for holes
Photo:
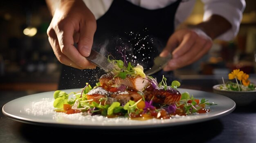
[[[126,0],[113,0],[108,11],[97,20],[92,48],[103,55],[112,55],[132,65],[140,64],[144,71],[153,66],[153,59],[161,53],[174,31],[175,12],[180,0],[162,9],[148,10]],[[79,70],[63,65],[58,89],[83,88],[86,83],[92,87],[101,75],[102,69]],[[168,85],[174,80],[171,71],[152,75],[157,81],[167,78]]]

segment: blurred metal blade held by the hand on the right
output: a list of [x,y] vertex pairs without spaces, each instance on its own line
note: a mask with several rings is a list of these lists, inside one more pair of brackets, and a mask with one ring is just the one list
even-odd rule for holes
[[166,64],[168,63],[168,61],[172,58],[172,55],[169,54],[167,57],[160,57],[157,56],[154,59],[154,65],[147,70],[146,72],[144,72],[146,75],[152,75],[156,72],[158,72],[159,70],[161,70],[162,68],[164,68],[164,66],[166,66]]

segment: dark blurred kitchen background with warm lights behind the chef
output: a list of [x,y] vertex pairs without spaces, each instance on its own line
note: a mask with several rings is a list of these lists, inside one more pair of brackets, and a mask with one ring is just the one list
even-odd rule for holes
[[[177,77],[183,80],[216,75],[227,77],[234,68],[252,76],[256,73],[256,1],[246,2],[237,37],[228,42],[215,40],[209,54],[176,70]],[[200,22],[202,5],[197,0],[192,14],[182,25]],[[61,64],[46,34],[51,18],[44,0],[0,1],[0,90],[42,92],[57,89]]]

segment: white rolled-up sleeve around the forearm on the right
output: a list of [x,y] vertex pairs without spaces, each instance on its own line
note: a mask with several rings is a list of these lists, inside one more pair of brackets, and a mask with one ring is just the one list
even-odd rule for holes
[[[228,20],[232,28],[217,37],[219,40],[229,41],[236,37],[240,22],[243,18],[245,0],[202,0],[204,3],[204,17],[207,20],[211,15],[221,15]],[[220,25],[221,26],[221,25]]]

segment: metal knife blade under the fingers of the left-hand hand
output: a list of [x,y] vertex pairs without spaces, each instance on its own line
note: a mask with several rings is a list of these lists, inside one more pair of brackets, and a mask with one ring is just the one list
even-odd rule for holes
[[105,57],[104,55],[101,55],[100,53],[98,53],[97,51],[95,51],[93,49],[91,50],[90,55],[85,58],[88,59],[93,64],[96,64],[97,66],[99,66],[100,68],[105,70],[106,72],[110,72],[114,68],[113,64],[108,62],[107,57]]

